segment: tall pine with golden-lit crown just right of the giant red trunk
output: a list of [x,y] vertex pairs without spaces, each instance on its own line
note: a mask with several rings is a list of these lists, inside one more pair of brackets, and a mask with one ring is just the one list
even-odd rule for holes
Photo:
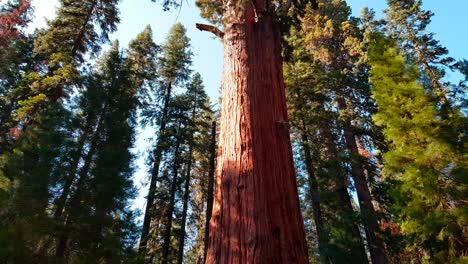
[[[357,27],[357,20],[350,17],[350,8],[344,1],[319,1],[319,7],[318,10],[306,9],[299,25],[300,33],[293,32],[289,40],[293,49],[290,55],[292,64],[288,71],[293,98],[291,111],[296,119],[293,125],[297,129],[300,145],[304,150],[303,160],[309,174],[310,186],[315,189],[310,190],[311,197],[318,192],[313,185],[316,182],[314,178],[320,176],[320,167],[323,165],[323,168],[328,168],[328,171],[331,168],[330,165],[334,164],[332,175],[337,177],[336,182],[329,181],[328,184],[331,184],[330,186],[338,184],[344,188],[349,186],[351,190],[355,190],[359,200],[360,216],[363,219],[359,221],[358,218],[354,218],[354,227],[347,221],[341,222],[342,227],[345,228],[343,233],[348,232],[349,239],[330,238],[337,243],[330,245],[336,247],[335,253],[326,253],[326,248],[322,245],[326,244],[327,235],[323,234],[324,228],[320,224],[316,226],[316,230],[322,233],[318,235],[318,238],[324,240],[318,241],[319,249],[322,247],[322,255],[327,257],[330,257],[330,254],[341,255],[341,261],[347,258],[347,254],[351,254],[348,259],[359,258],[360,255],[360,260],[355,261],[366,261],[364,246],[359,245],[362,243],[359,238],[360,232],[357,230],[358,226],[363,225],[373,263],[386,263],[385,247],[378,234],[379,223],[373,206],[374,199],[370,192],[373,175],[369,172],[372,171],[374,165],[362,158],[358,147],[358,143],[362,142],[361,139],[364,137],[371,138],[366,142],[371,147],[376,144],[375,126],[370,120],[370,113],[374,111],[375,104],[370,98],[367,82],[368,67],[361,63],[365,56],[361,50],[362,34]],[[307,103],[315,104],[314,108],[310,109]],[[320,123],[321,127],[315,127],[314,123]],[[309,147],[311,137],[319,137],[320,139],[314,141],[325,142],[325,144],[311,151]],[[319,146],[319,143],[313,145]],[[324,150],[327,150],[328,154],[323,153]],[[322,163],[320,165],[319,162],[317,172],[311,164],[312,153],[315,153],[315,159],[321,160]],[[319,158],[323,155],[322,153],[325,155]],[[353,179],[354,184],[348,183],[348,177]],[[327,183],[322,179],[322,184]],[[325,187],[326,192],[332,189],[328,187],[327,190]],[[350,207],[353,201],[350,200],[349,191],[339,192],[341,194],[336,197],[338,204],[334,207],[341,208],[343,213],[350,214],[350,217],[344,217],[344,219],[353,219],[351,216],[354,213],[352,206]],[[322,215],[317,204],[318,199],[319,197],[315,197],[312,200],[315,203],[315,206],[312,206],[315,223],[323,222],[320,220],[322,217],[317,216]],[[341,206],[339,206],[339,201],[342,201]],[[327,207],[326,202],[324,206]],[[338,234],[333,229],[341,228],[338,224],[339,220],[329,219],[329,221],[335,221],[331,224],[329,232]],[[355,250],[348,251],[352,247],[349,244],[339,245],[343,241],[353,240],[357,243]],[[361,251],[361,254],[356,254],[358,251]]]

